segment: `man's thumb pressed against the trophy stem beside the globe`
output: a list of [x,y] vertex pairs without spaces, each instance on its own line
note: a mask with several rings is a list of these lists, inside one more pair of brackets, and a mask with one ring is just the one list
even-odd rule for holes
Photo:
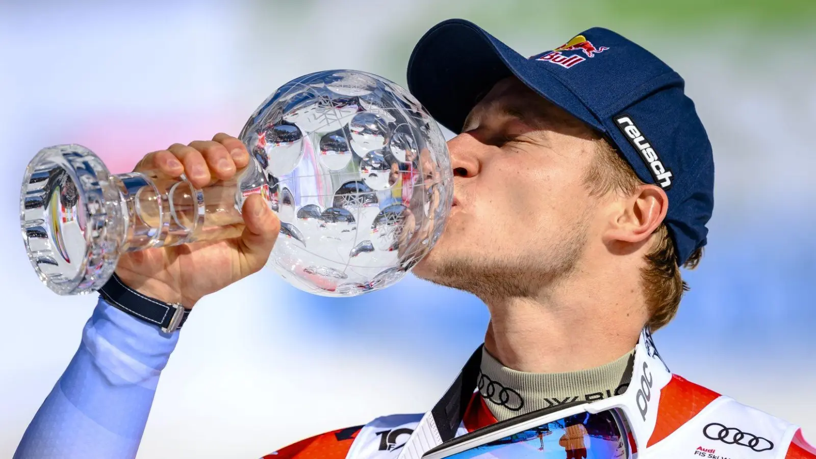
[[260,194],[251,194],[246,198],[242,216],[245,226],[240,246],[246,259],[246,269],[255,273],[268,261],[281,230],[281,222]]

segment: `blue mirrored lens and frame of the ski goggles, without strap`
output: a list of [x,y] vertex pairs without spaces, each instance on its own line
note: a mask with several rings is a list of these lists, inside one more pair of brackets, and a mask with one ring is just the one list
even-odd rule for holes
[[451,439],[423,459],[631,459],[627,410],[595,408],[573,402],[529,412]]

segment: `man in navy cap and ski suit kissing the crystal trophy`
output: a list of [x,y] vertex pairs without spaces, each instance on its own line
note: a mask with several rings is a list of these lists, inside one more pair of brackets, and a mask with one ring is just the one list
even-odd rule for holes
[[[700,260],[713,207],[711,145],[678,74],[605,29],[526,58],[450,20],[420,40],[408,82],[461,132],[448,143],[454,207],[415,274],[484,301],[485,344],[427,414],[268,457],[419,458],[497,421],[601,403],[625,414],[631,436],[611,436],[639,457],[816,457],[798,427],[672,375],[651,340],[676,312],[679,267]],[[204,185],[246,162],[243,145],[219,134],[139,168]],[[135,455],[176,325],[273,247],[273,214],[255,197],[243,211],[241,238],[122,257],[16,457]]]

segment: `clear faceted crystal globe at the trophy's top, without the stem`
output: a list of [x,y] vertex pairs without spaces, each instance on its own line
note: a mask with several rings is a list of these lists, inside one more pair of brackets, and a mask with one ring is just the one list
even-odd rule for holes
[[306,292],[355,296],[399,281],[437,242],[453,201],[437,123],[377,75],[296,78],[241,139],[267,174],[281,234],[268,267]]

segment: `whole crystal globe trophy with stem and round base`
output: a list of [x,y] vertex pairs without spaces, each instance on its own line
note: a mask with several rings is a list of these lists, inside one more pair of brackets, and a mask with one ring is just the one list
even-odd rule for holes
[[394,82],[355,70],[296,78],[239,137],[250,164],[202,189],[184,176],[113,175],[81,145],[42,149],[20,199],[39,278],[62,295],[94,292],[124,252],[237,237],[254,193],[281,221],[267,266],[323,296],[396,283],[444,229],[453,200],[444,136]]

